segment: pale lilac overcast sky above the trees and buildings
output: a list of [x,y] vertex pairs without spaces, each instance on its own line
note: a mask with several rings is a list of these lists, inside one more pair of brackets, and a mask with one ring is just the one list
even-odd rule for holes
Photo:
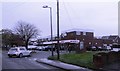
[[[92,31],[95,36],[118,34],[118,0],[59,0],[60,33],[67,30]],[[0,29],[12,29],[18,21],[34,24],[40,37],[50,36],[52,7],[53,34],[57,34],[56,0],[1,0]]]

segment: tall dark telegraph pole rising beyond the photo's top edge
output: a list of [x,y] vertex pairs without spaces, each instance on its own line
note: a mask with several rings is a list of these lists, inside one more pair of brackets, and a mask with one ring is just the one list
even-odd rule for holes
[[60,44],[59,44],[59,0],[57,0],[57,59],[60,59]]

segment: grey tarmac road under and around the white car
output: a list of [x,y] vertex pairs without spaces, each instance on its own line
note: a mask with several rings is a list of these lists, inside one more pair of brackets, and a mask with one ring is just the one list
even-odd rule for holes
[[7,56],[7,52],[3,51],[2,52],[2,69],[28,69],[30,70],[52,70],[52,71],[63,71],[61,69],[58,69],[56,67],[52,67],[46,64],[42,63],[37,63],[35,60],[39,58],[46,58],[50,56],[51,52],[47,51],[39,51],[37,53],[33,53],[32,57],[23,57],[23,58],[9,58]]

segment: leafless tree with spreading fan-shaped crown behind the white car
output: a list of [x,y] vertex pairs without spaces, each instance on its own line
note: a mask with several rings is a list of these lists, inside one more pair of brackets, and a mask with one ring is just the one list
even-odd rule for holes
[[38,29],[34,25],[23,21],[18,21],[15,30],[23,38],[27,49],[30,39],[38,35]]

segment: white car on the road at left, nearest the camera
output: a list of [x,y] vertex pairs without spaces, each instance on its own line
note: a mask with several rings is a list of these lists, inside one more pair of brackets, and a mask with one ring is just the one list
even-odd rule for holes
[[14,47],[8,51],[8,56],[17,56],[20,58],[23,56],[31,56],[31,51],[27,50],[25,47]]

